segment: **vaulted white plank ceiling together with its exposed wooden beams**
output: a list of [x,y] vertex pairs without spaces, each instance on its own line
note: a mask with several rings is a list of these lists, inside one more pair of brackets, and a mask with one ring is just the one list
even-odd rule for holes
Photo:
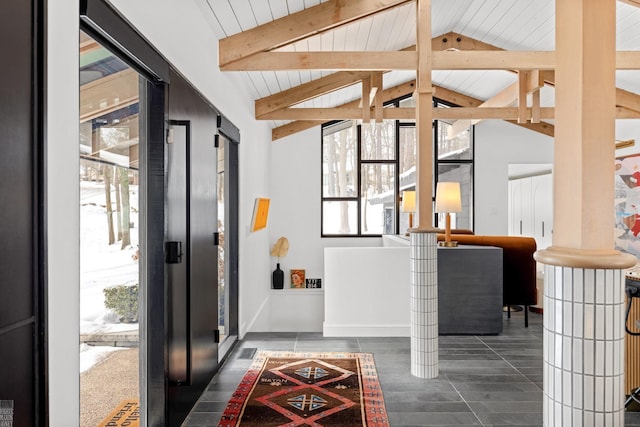
[[[334,119],[415,117],[381,108],[414,91],[415,0],[207,4],[220,69],[241,73],[274,140]],[[638,6],[617,2],[619,118],[640,118]],[[462,107],[434,118],[504,119],[553,135],[554,0],[431,0],[431,15],[435,96]]]

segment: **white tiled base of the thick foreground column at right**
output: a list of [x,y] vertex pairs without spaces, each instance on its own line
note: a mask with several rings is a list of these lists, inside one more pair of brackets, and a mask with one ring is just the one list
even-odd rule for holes
[[624,426],[624,275],[545,265],[544,425]]

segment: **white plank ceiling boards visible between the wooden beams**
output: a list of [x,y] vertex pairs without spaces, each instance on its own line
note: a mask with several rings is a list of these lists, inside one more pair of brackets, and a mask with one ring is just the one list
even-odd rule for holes
[[[596,0],[594,0],[596,1]],[[601,1],[601,0],[597,0]],[[223,39],[319,5],[320,0],[206,0],[207,19]],[[505,50],[555,49],[555,0],[431,0],[432,34],[449,32]],[[640,8],[617,2],[617,49],[640,50]],[[376,13],[329,31],[282,46],[281,51],[393,51],[416,43],[415,1]],[[390,66],[390,68],[392,68]],[[274,95],[333,71],[241,72],[254,100]],[[640,93],[640,72],[618,71],[617,86]],[[384,88],[415,79],[415,72],[384,74]],[[434,85],[486,100],[517,81],[507,71],[434,71]],[[360,84],[299,104],[331,108],[359,99]],[[437,92],[436,92],[437,96]],[[542,105],[553,106],[553,87],[542,92]],[[284,121],[272,121],[272,127]]]

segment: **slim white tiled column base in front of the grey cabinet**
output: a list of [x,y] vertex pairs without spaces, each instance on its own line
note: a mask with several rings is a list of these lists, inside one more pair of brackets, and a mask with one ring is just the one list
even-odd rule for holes
[[436,233],[411,230],[411,374],[438,376],[438,246]]

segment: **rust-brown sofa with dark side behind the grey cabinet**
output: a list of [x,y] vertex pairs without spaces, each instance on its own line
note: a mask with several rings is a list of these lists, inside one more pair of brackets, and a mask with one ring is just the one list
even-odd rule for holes
[[[454,231],[455,232],[455,231]],[[444,234],[438,234],[438,241],[444,241]],[[524,324],[529,326],[529,306],[538,302],[536,289],[536,261],[533,254],[537,250],[532,237],[482,236],[475,234],[451,234],[451,240],[461,245],[497,246],[502,248],[503,305],[524,306]]]

